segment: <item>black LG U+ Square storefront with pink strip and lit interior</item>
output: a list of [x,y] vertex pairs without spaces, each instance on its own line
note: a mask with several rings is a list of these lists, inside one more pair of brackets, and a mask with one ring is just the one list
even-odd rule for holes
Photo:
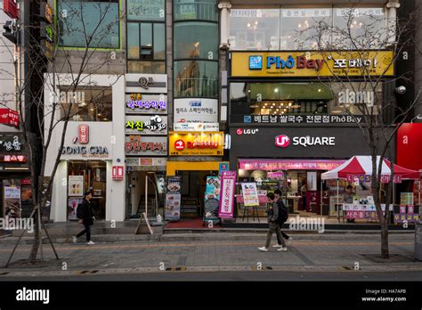
[[[266,194],[280,189],[290,213],[336,216],[337,181],[321,182],[321,173],[340,166],[355,154],[369,154],[358,127],[231,128],[230,165],[236,167],[238,216],[243,216],[241,183],[256,183],[258,216],[265,216]],[[349,183],[340,181],[339,200]],[[369,186],[353,185],[368,196]],[[250,213],[252,216],[252,213]]]

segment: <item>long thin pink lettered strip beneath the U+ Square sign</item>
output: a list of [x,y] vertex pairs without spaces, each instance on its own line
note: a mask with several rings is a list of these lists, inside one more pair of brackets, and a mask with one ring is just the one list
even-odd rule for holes
[[344,159],[239,159],[239,169],[245,170],[331,170]]

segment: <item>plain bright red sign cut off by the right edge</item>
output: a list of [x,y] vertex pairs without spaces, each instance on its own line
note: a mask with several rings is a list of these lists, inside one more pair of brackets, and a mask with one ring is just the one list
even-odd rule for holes
[[397,165],[422,169],[422,123],[406,123],[397,131]]

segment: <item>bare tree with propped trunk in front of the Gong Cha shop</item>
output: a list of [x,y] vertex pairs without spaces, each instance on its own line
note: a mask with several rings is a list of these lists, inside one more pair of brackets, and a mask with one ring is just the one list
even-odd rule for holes
[[[25,55],[25,61],[29,62],[28,69],[21,78],[19,78],[19,57],[15,57],[14,51],[9,50],[15,59],[15,72],[11,74],[16,80],[20,124],[31,158],[35,241],[28,260],[32,264],[37,261],[40,245],[43,259],[42,211],[49,208],[51,204],[53,179],[61,161],[61,150],[69,119],[86,110],[89,104],[96,102],[100,95],[97,93],[91,96],[89,102],[77,102],[77,98],[68,100],[68,96],[62,94],[77,94],[78,91],[89,90],[95,86],[91,80],[93,74],[116,73],[111,72],[110,69],[114,52],[111,49],[104,51],[101,47],[111,47],[110,42],[106,40],[110,38],[110,34],[119,36],[117,29],[120,21],[124,20],[116,1],[89,3],[79,0],[61,3],[61,10],[58,10],[57,18],[49,26],[50,29],[45,30],[45,27],[40,27],[39,23],[19,24],[18,33],[28,37],[27,44],[20,48],[20,54]],[[40,7],[45,4],[34,1],[31,5]],[[94,19],[87,19],[86,12],[94,16]],[[51,19],[53,16],[50,17]],[[18,37],[18,42],[20,42],[20,37]],[[69,47],[77,47],[77,50],[69,49]],[[96,58],[96,64],[93,63],[94,58]],[[118,78],[117,75],[114,83]],[[38,81],[37,87],[34,87],[34,80]],[[44,96],[45,90],[53,94],[47,100]],[[26,101],[25,98],[30,98],[30,101]],[[32,128],[28,126],[30,121],[32,121]],[[50,152],[47,158],[47,151],[53,146],[54,135],[60,136],[60,148],[54,152],[53,158]],[[53,171],[48,178],[45,177],[47,160],[54,163]],[[48,237],[46,229],[45,233]]]

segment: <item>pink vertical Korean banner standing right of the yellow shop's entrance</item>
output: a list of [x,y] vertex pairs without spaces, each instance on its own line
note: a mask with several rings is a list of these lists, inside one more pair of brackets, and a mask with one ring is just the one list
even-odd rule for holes
[[235,184],[236,171],[223,171],[221,176],[220,202],[218,206],[218,216],[220,218],[233,217]]

